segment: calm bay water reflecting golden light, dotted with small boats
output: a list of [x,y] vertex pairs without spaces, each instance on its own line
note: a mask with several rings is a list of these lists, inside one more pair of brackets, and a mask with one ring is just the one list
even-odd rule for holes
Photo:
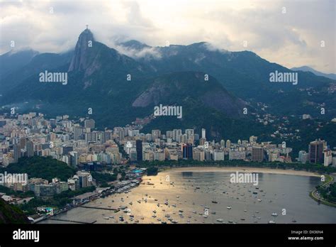
[[[336,208],[319,205],[308,195],[320,183],[319,177],[259,173],[259,190],[252,184],[230,183],[230,172],[168,170],[157,176],[143,177],[143,182],[145,185],[133,188],[128,194],[113,194],[85,205],[113,209],[127,206],[130,209],[128,213],[123,210],[114,213],[102,209],[75,208],[55,216],[55,219],[96,221],[103,224],[135,221],[159,224],[160,221],[171,223],[167,219],[169,214],[178,223],[191,224],[220,224],[217,219],[223,219],[223,223],[236,221],[237,224],[268,223],[270,220],[293,223],[294,219],[297,223],[336,223]],[[154,185],[147,185],[147,182]],[[258,194],[252,194],[254,191]],[[168,205],[164,204],[166,200]],[[213,200],[218,203],[214,204]],[[282,209],[286,209],[286,215],[282,215]],[[278,216],[271,216],[273,212]],[[203,215],[207,213],[208,217],[205,218]],[[156,217],[152,217],[153,215]],[[119,216],[123,216],[125,221],[121,222]],[[104,219],[106,217],[108,219]],[[132,218],[133,221],[130,220]],[[65,222],[46,220],[41,223]]]

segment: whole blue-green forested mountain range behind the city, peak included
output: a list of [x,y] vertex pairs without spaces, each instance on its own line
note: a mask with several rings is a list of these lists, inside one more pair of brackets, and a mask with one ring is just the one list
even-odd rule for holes
[[[13,70],[1,66],[1,106],[74,117],[87,116],[92,108],[90,117],[101,127],[150,116],[158,104],[182,106],[182,119],[159,117],[148,126],[208,126],[214,137],[236,133],[233,122],[252,126],[251,115],[242,112],[259,111],[259,102],[279,115],[314,114],[322,103],[327,105],[326,116],[336,112],[335,91],[330,90],[335,80],[298,72],[297,85],[272,83],[270,73],[293,71],[250,51],[218,50],[208,43],[150,47],[136,40],[119,43],[116,49],[96,41],[86,28],[68,53],[30,53]],[[14,58],[5,54],[0,61]],[[67,84],[40,82],[39,74],[45,71],[67,73]]]

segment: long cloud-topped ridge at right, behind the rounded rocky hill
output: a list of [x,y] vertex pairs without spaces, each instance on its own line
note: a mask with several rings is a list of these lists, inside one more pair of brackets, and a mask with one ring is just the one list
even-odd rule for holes
[[[335,80],[299,71],[297,84],[270,82],[270,73],[293,71],[268,62],[250,51],[218,50],[204,42],[152,49],[159,53],[159,59],[148,56],[135,58],[152,67],[158,75],[202,71],[218,79],[229,92],[250,101],[254,106],[258,102],[267,104],[271,114],[319,114],[318,107],[323,103],[327,105],[324,116],[330,118],[336,114]],[[325,96],[321,98],[321,94]]]

